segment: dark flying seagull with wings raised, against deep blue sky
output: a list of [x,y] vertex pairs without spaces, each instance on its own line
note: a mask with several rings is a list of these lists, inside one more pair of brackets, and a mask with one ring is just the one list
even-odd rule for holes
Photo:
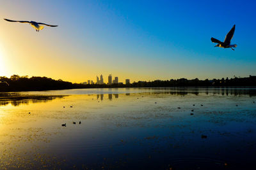
[[231,48],[232,50],[234,50],[233,48],[236,48],[237,45],[230,45],[230,41],[234,36],[235,27],[236,27],[236,25],[234,25],[232,27],[232,29],[230,29],[230,31],[228,32],[228,34],[225,37],[224,42],[221,42],[220,40],[215,39],[215,38],[211,38],[212,43],[218,43],[216,46],[219,46],[221,48]]

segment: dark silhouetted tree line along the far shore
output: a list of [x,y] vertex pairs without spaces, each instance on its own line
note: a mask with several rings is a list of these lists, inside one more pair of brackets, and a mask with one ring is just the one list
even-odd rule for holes
[[[6,83],[3,83],[6,81]],[[117,87],[256,87],[256,76],[246,78],[222,78],[213,80],[188,80],[180,78],[177,80],[155,80],[138,81],[130,84],[112,85],[83,85],[52,78],[33,76],[13,75],[10,78],[0,76],[0,92],[37,91],[37,90],[63,90],[63,89],[88,89],[88,88],[117,88]]]

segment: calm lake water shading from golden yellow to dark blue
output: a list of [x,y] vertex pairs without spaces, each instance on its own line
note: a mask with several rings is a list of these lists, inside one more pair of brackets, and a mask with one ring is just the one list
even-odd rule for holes
[[0,93],[0,169],[256,169],[255,159],[255,88]]

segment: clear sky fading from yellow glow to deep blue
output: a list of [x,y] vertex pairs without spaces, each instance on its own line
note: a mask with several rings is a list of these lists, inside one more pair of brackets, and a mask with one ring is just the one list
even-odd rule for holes
[[[196,3],[194,3],[196,2]],[[255,1],[9,1],[0,18],[0,76],[80,83],[256,75]],[[230,48],[214,48],[236,24]]]

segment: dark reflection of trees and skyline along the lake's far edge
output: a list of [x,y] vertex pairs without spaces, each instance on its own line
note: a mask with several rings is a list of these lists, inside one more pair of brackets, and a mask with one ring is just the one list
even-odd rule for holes
[[[85,89],[87,90],[87,89]],[[188,95],[195,95],[195,96],[256,96],[256,89],[253,88],[141,88],[141,89],[129,89],[126,88],[125,90],[129,90],[129,93],[124,92],[123,89],[115,89],[113,93],[112,89],[107,89],[108,91],[100,91],[103,92],[101,94],[96,94],[97,100],[100,101],[104,100],[104,94],[108,94],[109,101],[112,101],[113,96],[115,99],[118,99],[120,94],[124,94],[125,96],[134,96],[137,94],[143,95],[150,95],[150,94],[170,94],[172,96],[188,96]],[[8,104],[12,104],[12,106],[19,106],[20,104],[29,104],[29,103],[38,103],[38,102],[47,102],[52,101],[54,99],[61,99],[64,96],[72,95],[65,94],[61,95],[63,90],[54,91],[52,95],[49,92],[41,92],[42,94],[36,94],[37,92],[3,92],[0,93],[0,106],[6,106]],[[67,91],[67,90],[65,90]],[[119,92],[120,91],[120,92]],[[56,94],[59,92],[60,94]],[[72,91],[71,91],[72,92]],[[76,94],[84,93],[84,89],[76,90]],[[96,92],[96,91],[95,91]],[[109,93],[108,93],[109,92]],[[35,94],[34,94],[35,93]],[[88,94],[88,96],[94,96],[95,94]]]

